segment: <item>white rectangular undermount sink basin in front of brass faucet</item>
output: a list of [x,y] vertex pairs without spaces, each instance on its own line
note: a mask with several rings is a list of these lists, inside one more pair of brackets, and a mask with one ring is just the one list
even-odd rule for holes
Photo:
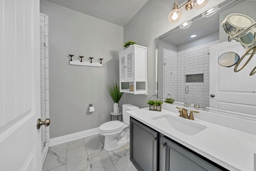
[[185,133],[186,135],[196,135],[197,133],[203,131],[207,127],[205,125],[194,123],[192,120],[187,120],[182,117],[176,117],[168,114],[152,117],[152,120],[161,120],[162,124],[168,124],[170,127]]

